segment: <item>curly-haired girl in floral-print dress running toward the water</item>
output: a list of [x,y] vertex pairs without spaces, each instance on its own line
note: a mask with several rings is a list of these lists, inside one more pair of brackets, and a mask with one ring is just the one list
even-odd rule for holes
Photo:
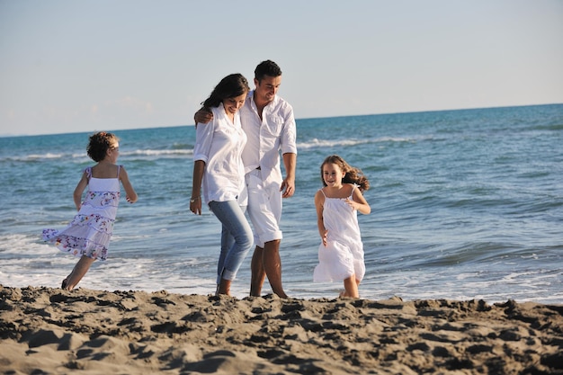
[[[120,202],[120,182],[127,201],[137,201],[137,193],[125,168],[115,164],[120,155],[119,138],[105,131],[95,133],[90,136],[86,151],[98,164],[87,167],[76,185],[73,197],[78,213],[75,219],[63,230],[43,230],[45,241],[61,251],[80,256],[75,268],[62,282],[64,290],[76,287],[96,259],[106,259]],[[86,187],[88,191],[81,203]]]

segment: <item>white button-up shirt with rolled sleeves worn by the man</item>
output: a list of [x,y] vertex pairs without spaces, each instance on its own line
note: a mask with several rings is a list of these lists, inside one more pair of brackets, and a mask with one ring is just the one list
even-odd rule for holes
[[281,154],[297,154],[297,129],[290,103],[275,95],[262,112],[262,120],[254,101],[254,91],[240,109],[242,127],[248,137],[243,150],[243,163],[248,173],[260,166],[264,181],[281,183]]

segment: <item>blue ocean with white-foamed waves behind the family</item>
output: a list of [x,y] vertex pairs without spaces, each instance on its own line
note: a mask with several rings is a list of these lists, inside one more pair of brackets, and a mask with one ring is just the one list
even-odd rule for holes
[[[362,298],[563,303],[563,104],[300,119],[297,127],[296,193],[281,221],[290,297],[332,299],[344,289],[312,282],[319,166],[338,154],[371,182],[371,214],[359,215]],[[213,293],[220,226],[209,209],[189,210],[193,126],[113,132],[139,201],[123,194],[108,260],[79,287]],[[58,287],[76,263],[40,234],[76,213],[72,193],[94,165],[89,134],[0,138],[0,284]],[[233,282],[237,298],[248,294],[250,258]]]

